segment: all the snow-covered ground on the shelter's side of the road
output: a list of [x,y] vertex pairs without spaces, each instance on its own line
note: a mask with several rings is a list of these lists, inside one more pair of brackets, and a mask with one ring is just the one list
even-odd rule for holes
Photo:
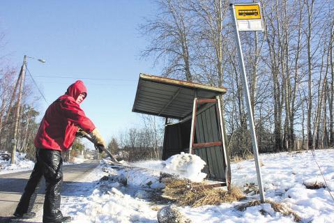
[[[327,189],[310,190],[303,185],[324,181],[311,152],[265,154],[260,158],[266,199],[284,203],[301,216],[302,222],[333,222],[334,201]],[[328,186],[334,190],[334,150],[316,151],[316,159]],[[89,186],[78,185],[77,195],[63,196],[61,209],[73,216],[73,222],[158,222],[156,215],[161,206],[147,201],[146,193],[155,188],[152,185],[158,182],[158,173],[167,164],[150,161],[132,165],[149,169],[125,171],[101,164],[89,175]],[[232,183],[239,187],[257,183],[253,160],[231,164],[231,174]],[[107,175],[108,178],[100,180]],[[128,185],[120,183],[122,179]],[[179,210],[192,222],[294,222],[292,216],[276,213],[268,203],[237,210],[236,206],[259,199],[253,192],[247,197],[245,201],[219,206]]]

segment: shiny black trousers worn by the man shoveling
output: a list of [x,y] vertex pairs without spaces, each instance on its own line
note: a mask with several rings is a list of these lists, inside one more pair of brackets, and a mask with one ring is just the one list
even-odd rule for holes
[[50,149],[37,149],[36,164],[33,167],[28,183],[24,188],[24,192],[20,199],[15,213],[28,213],[33,208],[33,203],[36,200],[40,180],[45,178],[45,200],[43,207],[43,222],[52,222],[59,220],[61,214],[61,185],[63,184],[63,160],[61,152]]

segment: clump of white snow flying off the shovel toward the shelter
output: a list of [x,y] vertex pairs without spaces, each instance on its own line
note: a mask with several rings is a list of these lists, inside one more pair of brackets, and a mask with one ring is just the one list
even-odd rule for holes
[[206,163],[198,155],[181,153],[172,155],[165,161],[135,162],[131,165],[168,174],[176,174],[193,182],[201,182],[206,177],[206,174],[201,172],[205,164]]

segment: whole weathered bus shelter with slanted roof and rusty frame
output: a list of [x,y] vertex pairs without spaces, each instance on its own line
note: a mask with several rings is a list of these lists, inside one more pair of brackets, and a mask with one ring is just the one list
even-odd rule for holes
[[[162,160],[181,152],[206,162],[204,172],[219,185],[231,182],[220,106],[225,88],[153,75],[139,75],[132,112],[166,118]],[[179,120],[168,123],[168,118]]]

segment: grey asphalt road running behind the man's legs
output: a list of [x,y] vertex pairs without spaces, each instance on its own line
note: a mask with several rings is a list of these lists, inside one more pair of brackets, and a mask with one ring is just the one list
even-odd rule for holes
[[[96,160],[63,166],[63,187],[61,194],[66,196],[71,194],[78,195],[78,183],[85,185],[86,183],[82,179],[97,166],[98,161]],[[10,222],[9,219],[13,216],[30,174],[31,171],[21,171],[0,175],[0,222]],[[44,192],[45,180],[43,179],[33,211],[38,212],[38,210],[43,209]]]

